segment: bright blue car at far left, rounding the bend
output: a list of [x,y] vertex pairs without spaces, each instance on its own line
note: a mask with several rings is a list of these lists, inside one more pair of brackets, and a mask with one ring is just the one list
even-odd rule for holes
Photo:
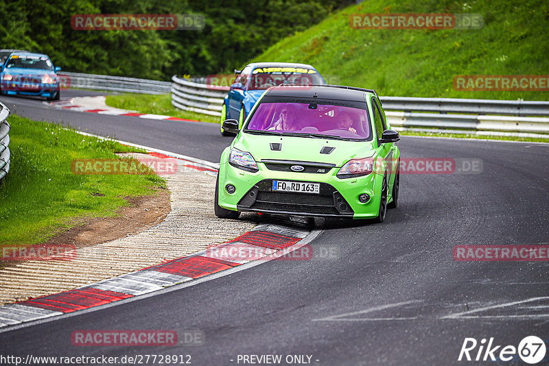
[[32,95],[59,100],[57,72],[48,56],[41,53],[14,52],[0,66],[2,95]]

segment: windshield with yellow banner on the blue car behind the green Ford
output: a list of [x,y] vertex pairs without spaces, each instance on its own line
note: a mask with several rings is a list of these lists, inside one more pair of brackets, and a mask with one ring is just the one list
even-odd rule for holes
[[313,69],[296,67],[264,67],[255,69],[248,90],[264,90],[271,86],[295,84],[325,84]]

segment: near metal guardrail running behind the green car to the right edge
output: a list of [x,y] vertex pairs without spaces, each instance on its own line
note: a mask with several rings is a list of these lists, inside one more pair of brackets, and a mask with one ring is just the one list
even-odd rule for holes
[[[221,116],[223,98],[229,87],[196,81],[172,77],[172,104],[183,110]],[[413,97],[381,97],[381,100],[391,126],[401,130],[434,128],[549,134],[549,118],[546,118],[549,101]]]

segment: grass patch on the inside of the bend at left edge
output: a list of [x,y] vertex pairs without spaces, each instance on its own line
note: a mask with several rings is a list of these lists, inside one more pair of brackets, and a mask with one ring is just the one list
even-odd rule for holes
[[32,245],[78,225],[84,217],[113,217],[124,197],[165,188],[158,175],[75,175],[73,159],[112,159],[140,151],[82,136],[53,123],[19,116],[11,125],[10,173],[0,182],[0,244]]

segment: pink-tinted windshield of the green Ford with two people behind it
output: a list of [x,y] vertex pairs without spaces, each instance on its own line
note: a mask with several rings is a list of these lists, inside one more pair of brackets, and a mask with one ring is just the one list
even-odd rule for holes
[[261,103],[246,130],[325,134],[360,139],[371,136],[367,110],[309,103]]

